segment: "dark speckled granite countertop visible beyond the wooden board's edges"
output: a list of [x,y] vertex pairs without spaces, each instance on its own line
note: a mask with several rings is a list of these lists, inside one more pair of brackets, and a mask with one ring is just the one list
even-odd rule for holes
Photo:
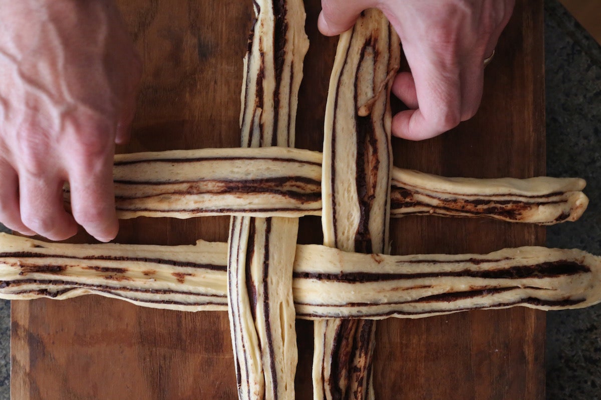
[[[599,17],[601,23],[601,16]],[[545,1],[547,175],[587,180],[579,221],[548,228],[547,245],[601,255],[601,46],[557,0]],[[549,312],[549,400],[601,398],[601,305]],[[10,399],[10,302],[0,300],[0,400]]]

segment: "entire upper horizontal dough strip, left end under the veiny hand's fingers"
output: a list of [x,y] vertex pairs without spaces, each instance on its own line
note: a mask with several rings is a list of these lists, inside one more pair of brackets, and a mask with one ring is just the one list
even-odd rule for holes
[[[277,147],[115,155],[117,213],[119,218],[320,215],[321,165],[320,152]],[[391,216],[575,221],[588,205],[584,185],[579,178],[443,178],[394,168]]]

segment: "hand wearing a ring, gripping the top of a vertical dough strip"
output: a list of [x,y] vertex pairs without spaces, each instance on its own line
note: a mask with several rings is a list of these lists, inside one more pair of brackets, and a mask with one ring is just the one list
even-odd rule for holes
[[472,118],[480,106],[484,59],[492,55],[514,0],[322,0],[319,30],[338,35],[367,8],[379,8],[397,31],[411,72],[392,92],[409,107],[392,133],[429,139]]

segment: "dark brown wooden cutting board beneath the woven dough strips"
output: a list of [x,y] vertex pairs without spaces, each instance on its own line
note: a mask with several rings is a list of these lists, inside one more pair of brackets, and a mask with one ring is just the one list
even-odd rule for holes
[[[121,152],[239,146],[242,57],[251,1],[121,0],[144,59],[133,138]],[[316,29],[305,65],[297,147],[320,150],[337,38]],[[394,140],[395,165],[446,176],[545,174],[542,1],[517,1],[486,68],[478,114],[426,142]],[[177,245],[227,240],[228,217],[121,221],[117,242]],[[322,242],[302,218],[301,242]],[[394,254],[489,252],[542,245],[545,230],[478,219],[406,217]],[[90,241],[85,234],[76,240]],[[141,308],[99,296],[12,305],[12,389],[19,399],[235,399],[225,312]],[[297,323],[297,398],[311,398],[312,324]],[[525,308],[378,324],[378,399],[543,399],[545,314]]]

